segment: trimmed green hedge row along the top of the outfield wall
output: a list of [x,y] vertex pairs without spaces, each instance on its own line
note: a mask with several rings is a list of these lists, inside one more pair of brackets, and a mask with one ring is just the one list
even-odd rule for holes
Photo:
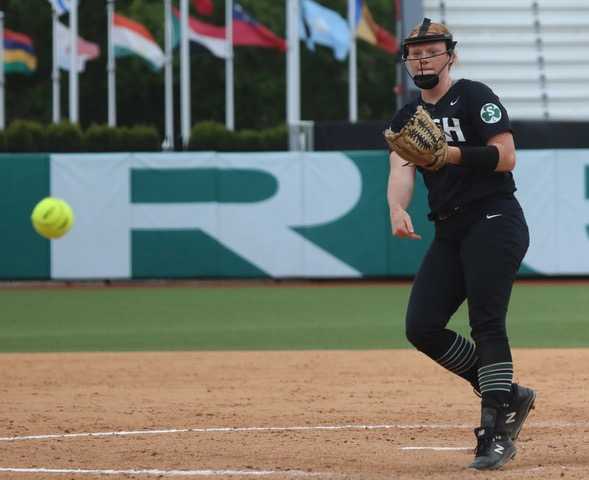
[[[69,122],[42,125],[15,120],[0,130],[0,152],[145,152],[160,151],[161,137],[154,127],[91,125],[83,131]],[[287,150],[285,125],[265,130],[228,131],[216,122],[197,123],[188,150],[264,151]]]

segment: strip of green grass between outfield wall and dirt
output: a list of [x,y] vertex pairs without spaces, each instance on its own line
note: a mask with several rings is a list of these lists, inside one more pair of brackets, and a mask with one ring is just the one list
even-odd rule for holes
[[[409,286],[0,290],[0,351],[407,348]],[[513,347],[589,346],[583,284],[516,285]],[[451,327],[468,333],[465,308]]]

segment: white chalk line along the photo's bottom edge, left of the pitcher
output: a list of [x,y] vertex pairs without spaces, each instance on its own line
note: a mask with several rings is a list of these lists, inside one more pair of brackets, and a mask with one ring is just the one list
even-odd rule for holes
[[[270,476],[319,477],[324,474],[301,470],[114,470],[82,468],[0,468],[0,473],[47,473],[56,475],[145,475],[152,477]],[[326,475],[327,476],[327,475]],[[329,476],[334,476],[329,474]]]

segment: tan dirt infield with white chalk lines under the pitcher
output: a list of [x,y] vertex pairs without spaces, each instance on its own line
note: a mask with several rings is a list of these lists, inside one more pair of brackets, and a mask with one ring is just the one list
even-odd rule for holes
[[478,399],[412,350],[3,354],[0,478],[588,478],[589,350],[514,359],[537,408],[489,473]]

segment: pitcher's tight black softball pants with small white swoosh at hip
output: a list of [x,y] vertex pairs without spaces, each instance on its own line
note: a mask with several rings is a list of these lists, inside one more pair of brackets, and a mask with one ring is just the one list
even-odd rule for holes
[[[437,221],[411,290],[408,340],[478,389],[479,368],[512,361],[507,308],[528,245],[528,227],[513,196],[486,199]],[[465,299],[474,345],[446,328]]]

